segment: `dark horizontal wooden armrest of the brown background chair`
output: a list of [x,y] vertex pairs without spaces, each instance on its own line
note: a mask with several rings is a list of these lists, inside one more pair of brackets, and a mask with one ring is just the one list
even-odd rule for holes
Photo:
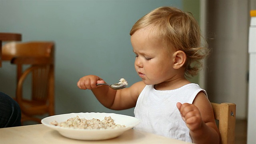
[[49,57],[14,57],[12,64],[53,64],[53,58]]

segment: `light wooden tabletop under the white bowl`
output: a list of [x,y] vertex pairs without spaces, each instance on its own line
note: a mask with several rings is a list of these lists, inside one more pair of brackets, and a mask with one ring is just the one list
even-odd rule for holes
[[0,128],[0,144],[188,144],[156,134],[130,129],[117,138],[109,140],[74,140],[43,124]]

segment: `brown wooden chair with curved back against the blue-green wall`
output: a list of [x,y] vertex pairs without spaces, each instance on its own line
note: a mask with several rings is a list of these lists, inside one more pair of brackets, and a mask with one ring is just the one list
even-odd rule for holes
[[2,47],[2,60],[17,65],[14,99],[22,111],[21,122],[40,123],[40,118],[35,116],[54,115],[54,43],[10,42]]

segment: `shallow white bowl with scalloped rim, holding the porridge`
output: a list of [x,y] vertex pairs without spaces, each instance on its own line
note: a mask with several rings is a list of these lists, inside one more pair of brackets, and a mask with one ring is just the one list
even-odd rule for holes
[[[116,124],[125,125],[123,128],[114,129],[78,129],[78,128],[64,128],[60,126],[54,126],[50,122],[56,120],[57,122],[64,122],[69,118],[79,116],[80,118],[92,119],[97,118],[103,120],[105,116],[111,116]],[[86,112],[86,113],[70,113],[70,114],[60,114],[55,116],[49,116],[41,120],[42,124],[57,130],[62,136],[67,138],[73,138],[77,140],[106,140],[110,138],[115,138],[123,134],[126,130],[129,130],[136,126],[140,120],[132,116],[126,116],[122,114],[114,113],[100,113],[100,112]]]

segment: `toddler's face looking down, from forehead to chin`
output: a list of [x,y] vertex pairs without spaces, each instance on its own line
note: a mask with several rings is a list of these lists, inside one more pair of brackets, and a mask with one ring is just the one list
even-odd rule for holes
[[135,69],[147,85],[168,82],[173,77],[173,52],[159,39],[149,35],[149,30],[141,29],[131,36],[133,51],[136,54]]

